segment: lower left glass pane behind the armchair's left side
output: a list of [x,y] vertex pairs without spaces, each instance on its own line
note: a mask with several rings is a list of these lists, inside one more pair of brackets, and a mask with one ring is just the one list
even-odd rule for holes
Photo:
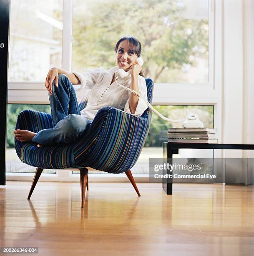
[[[24,164],[18,158],[15,146],[14,135],[18,114],[25,109],[37,110],[45,113],[51,113],[50,105],[35,104],[8,104],[7,118],[7,152],[6,152],[6,172],[35,172],[36,167]],[[44,169],[43,173],[56,173],[56,170]]]

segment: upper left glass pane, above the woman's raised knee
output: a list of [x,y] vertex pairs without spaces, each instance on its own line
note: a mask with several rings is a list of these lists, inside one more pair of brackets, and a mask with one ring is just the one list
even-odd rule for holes
[[45,81],[61,67],[63,0],[12,0],[9,81]]

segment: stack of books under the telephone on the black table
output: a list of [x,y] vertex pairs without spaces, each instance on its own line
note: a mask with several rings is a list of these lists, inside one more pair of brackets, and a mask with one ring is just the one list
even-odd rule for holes
[[169,128],[168,142],[177,143],[218,143],[217,129],[211,128]]

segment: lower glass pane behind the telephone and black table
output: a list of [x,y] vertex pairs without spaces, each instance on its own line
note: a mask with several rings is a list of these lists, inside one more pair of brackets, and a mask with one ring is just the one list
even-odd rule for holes
[[[162,115],[172,119],[185,118],[187,109],[195,111],[198,109],[199,119],[204,123],[204,127],[214,127],[214,106],[154,106]],[[163,149],[162,142],[168,141],[168,128],[181,128],[181,123],[169,123],[158,117],[155,113],[152,114],[151,127],[146,138],[145,145],[141,151],[139,159],[135,166],[131,169],[133,174],[148,174],[149,173],[149,158],[162,158]],[[210,149],[180,149],[179,154],[174,157],[181,158],[210,158],[213,156],[213,151]]]

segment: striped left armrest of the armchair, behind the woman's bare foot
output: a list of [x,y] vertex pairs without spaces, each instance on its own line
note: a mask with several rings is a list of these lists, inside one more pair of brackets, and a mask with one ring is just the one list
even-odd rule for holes
[[18,115],[16,129],[38,133],[40,130],[53,128],[51,115],[35,110],[23,110]]

